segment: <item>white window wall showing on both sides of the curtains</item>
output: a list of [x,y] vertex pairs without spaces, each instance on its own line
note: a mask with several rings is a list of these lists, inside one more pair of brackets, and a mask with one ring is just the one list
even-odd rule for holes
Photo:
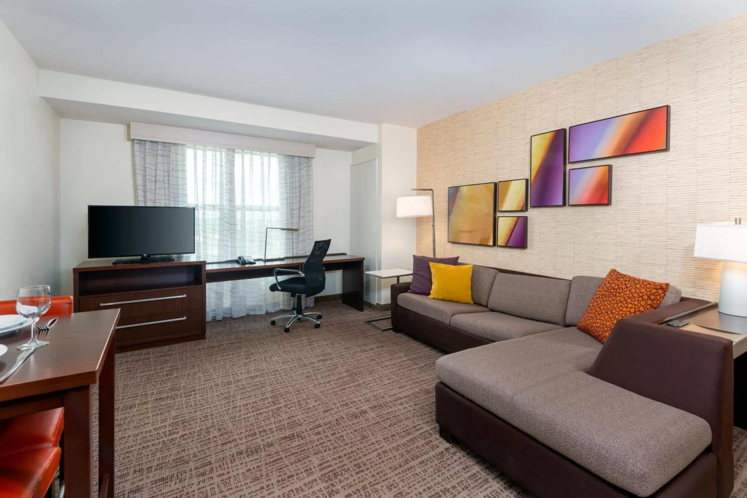
[[[61,280],[72,292],[72,267],[88,256],[88,205],[134,204],[132,143],[125,125],[77,119],[62,119],[60,140]],[[313,165],[314,238],[349,252],[350,152],[317,149]],[[340,292],[341,276],[329,273],[323,294]]]

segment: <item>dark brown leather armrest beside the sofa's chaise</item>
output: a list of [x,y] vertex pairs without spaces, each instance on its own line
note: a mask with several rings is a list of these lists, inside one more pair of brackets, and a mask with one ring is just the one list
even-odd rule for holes
[[589,375],[706,420],[716,455],[716,497],[728,497],[734,486],[734,346],[640,317],[616,323]]

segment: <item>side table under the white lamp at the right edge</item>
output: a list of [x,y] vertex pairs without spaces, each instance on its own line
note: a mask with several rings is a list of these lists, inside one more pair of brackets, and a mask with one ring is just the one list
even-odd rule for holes
[[699,334],[724,337],[734,343],[734,425],[747,429],[747,317],[719,313],[719,305],[712,303],[699,310],[690,311],[667,320],[682,320],[687,324],[679,329]]

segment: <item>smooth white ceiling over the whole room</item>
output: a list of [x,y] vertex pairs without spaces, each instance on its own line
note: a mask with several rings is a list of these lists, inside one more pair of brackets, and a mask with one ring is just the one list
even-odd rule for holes
[[0,0],[43,69],[420,126],[746,0]]

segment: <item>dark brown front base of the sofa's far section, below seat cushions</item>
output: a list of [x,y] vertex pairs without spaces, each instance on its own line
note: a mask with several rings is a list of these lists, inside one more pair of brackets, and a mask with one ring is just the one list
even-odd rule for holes
[[394,332],[404,332],[417,337],[445,352],[457,352],[493,343],[492,340],[454,329],[452,326],[402,306],[397,306],[397,318],[395,320],[393,315],[392,326],[394,326]]

